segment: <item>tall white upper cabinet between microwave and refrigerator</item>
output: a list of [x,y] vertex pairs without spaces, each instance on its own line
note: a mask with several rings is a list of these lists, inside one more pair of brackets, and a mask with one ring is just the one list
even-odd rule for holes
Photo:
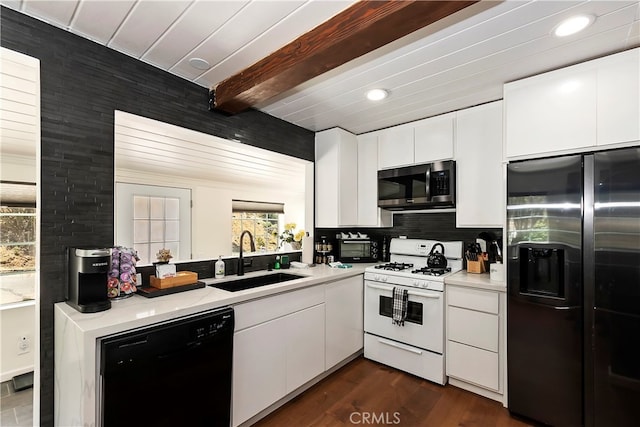
[[502,228],[502,101],[458,111],[456,226]]

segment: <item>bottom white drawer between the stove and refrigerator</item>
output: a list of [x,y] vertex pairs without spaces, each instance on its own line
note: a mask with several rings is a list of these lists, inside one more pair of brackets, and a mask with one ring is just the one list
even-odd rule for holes
[[498,353],[453,341],[448,344],[447,375],[494,391],[500,390]]

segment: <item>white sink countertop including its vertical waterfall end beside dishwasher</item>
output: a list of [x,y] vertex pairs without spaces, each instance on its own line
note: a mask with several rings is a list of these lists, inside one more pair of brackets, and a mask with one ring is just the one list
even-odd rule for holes
[[[352,268],[331,268],[319,265],[306,269],[275,270],[299,274],[300,279],[261,286],[238,292],[228,292],[211,286],[171,295],[146,298],[133,295],[112,301],[111,308],[99,313],[80,313],[67,303],[58,303],[55,316],[55,425],[96,425],[97,408],[97,345],[96,340],[135,328],[333,282],[364,273],[372,264],[353,264]],[[267,274],[266,271],[246,273],[242,277],[201,279],[206,284],[231,281]],[[64,396],[64,398],[62,397]]]

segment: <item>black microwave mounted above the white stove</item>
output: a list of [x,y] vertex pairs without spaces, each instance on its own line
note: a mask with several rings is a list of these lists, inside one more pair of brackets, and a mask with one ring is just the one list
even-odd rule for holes
[[378,206],[388,210],[455,207],[453,160],[378,171]]

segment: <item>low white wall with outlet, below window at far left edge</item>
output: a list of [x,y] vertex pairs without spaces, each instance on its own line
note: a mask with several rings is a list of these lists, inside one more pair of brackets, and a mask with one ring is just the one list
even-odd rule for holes
[[[0,381],[8,381],[16,375],[34,370],[36,304],[31,301],[14,307],[0,309]],[[28,353],[18,354],[21,336],[29,338],[31,349]]]

